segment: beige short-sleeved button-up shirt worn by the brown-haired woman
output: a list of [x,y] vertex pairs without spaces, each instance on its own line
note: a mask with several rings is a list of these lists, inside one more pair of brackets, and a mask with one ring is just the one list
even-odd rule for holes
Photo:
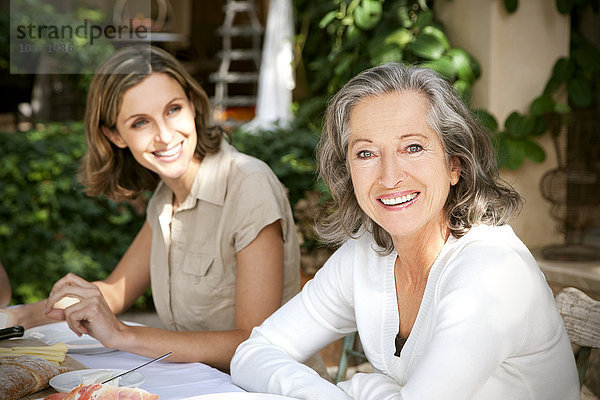
[[282,302],[298,293],[300,248],[292,212],[283,185],[264,162],[223,141],[218,153],[202,160],[175,213],[172,200],[161,182],[147,210],[152,296],[165,327],[233,329],[236,253],[277,220],[284,236]]

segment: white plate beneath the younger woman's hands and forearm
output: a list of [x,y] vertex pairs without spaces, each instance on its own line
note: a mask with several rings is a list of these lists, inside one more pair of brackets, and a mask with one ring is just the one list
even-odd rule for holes
[[[142,326],[142,324],[136,322],[123,323],[132,326]],[[75,332],[69,329],[65,321],[26,329],[23,338],[38,339],[47,345],[62,342],[69,348],[69,353],[97,354],[115,351],[114,349],[104,347],[102,343],[89,335],[77,336]]]

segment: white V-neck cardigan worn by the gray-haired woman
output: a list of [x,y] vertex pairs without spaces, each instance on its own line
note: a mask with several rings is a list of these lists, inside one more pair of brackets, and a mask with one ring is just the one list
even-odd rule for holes
[[[346,242],[255,328],[233,357],[233,381],[298,399],[579,399],[552,292],[509,226],[447,240],[400,357],[396,253],[379,256],[374,246],[368,234]],[[375,373],[336,387],[297,362],[357,329]]]

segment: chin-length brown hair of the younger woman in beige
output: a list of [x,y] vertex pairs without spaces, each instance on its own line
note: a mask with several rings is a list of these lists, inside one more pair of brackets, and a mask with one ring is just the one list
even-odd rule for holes
[[206,93],[184,67],[166,51],[152,46],[125,47],[107,58],[90,84],[85,111],[88,152],[83,158],[80,181],[90,196],[104,194],[121,201],[134,199],[156,188],[158,175],[141,166],[128,148],[119,148],[102,132],[115,130],[123,95],[153,73],[175,79],[191,97],[195,108],[198,144],[195,157],[220,149],[223,131],[210,127],[210,103]]

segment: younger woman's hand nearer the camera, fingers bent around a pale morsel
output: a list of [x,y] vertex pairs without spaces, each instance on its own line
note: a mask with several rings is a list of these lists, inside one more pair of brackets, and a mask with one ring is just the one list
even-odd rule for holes
[[114,348],[119,333],[125,329],[98,286],[71,273],[54,284],[46,300],[45,314],[52,319],[66,320],[78,336],[88,334],[109,348]]

